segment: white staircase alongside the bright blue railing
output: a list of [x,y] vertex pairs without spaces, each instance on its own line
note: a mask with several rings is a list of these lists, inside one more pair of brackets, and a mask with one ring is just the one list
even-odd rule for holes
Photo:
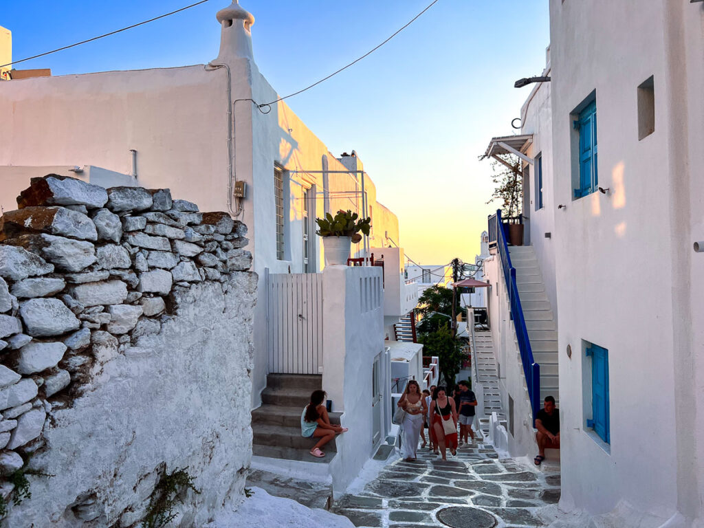
[[540,365],[540,399],[542,402],[551,395],[559,405],[557,325],[535,249],[533,246],[509,246],[508,251],[516,269],[516,284],[533,358]]

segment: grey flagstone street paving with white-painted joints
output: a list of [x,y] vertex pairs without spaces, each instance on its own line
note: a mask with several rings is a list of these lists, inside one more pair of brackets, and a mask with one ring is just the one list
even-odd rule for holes
[[[419,449],[415,462],[391,460],[361,494],[342,496],[332,511],[365,528],[541,527],[547,523],[536,509],[560,499],[557,467],[534,470],[512,458],[500,459],[492,446],[476,441],[447,461],[437,458]],[[457,506],[480,508],[496,523],[475,524],[461,514],[453,524],[438,520],[441,510]]]

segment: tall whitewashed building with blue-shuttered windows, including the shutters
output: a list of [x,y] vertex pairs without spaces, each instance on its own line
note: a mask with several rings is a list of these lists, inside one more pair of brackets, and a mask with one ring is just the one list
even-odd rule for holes
[[[551,82],[524,105],[522,143],[497,137],[489,149],[507,152],[508,144],[528,158],[529,245],[508,251],[522,310],[510,312],[524,320],[540,365],[539,400],[544,367],[555,364],[541,347],[556,339],[549,352],[559,365],[560,508],[596,526],[698,527],[704,4],[551,0],[550,14],[543,75]],[[501,234],[491,227],[498,252],[490,275],[508,315]],[[521,341],[518,325],[495,315],[494,340]],[[531,320],[555,326],[532,330]],[[502,363],[502,372],[519,374],[505,386],[529,395],[532,365],[521,377],[517,357],[505,358],[513,367]],[[521,406],[528,415],[530,405]],[[530,448],[528,433],[513,446]]]

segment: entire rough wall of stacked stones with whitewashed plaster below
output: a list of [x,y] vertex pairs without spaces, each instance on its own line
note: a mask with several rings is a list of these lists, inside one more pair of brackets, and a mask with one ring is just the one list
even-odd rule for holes
[[[168,189],[58,175],[18,206],[0,217],[4,522],[136,527],[163,474],[189,467],[202,492],[176,525],[204,524],[251,453],[246,226]],[[27,469],[52,476],[10,505]]]

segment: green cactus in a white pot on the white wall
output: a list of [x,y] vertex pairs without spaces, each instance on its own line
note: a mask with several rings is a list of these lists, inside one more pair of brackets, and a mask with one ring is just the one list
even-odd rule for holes
[[352,242],[356,244],[362,239],[360,232],[369,234],[371,221],[371,218],[360,218],[351,210],[339,210],[334,216],[327,213],[325,218],[316,218],[318,231],[315,233],[322,237],[325,265],[346,264]]

